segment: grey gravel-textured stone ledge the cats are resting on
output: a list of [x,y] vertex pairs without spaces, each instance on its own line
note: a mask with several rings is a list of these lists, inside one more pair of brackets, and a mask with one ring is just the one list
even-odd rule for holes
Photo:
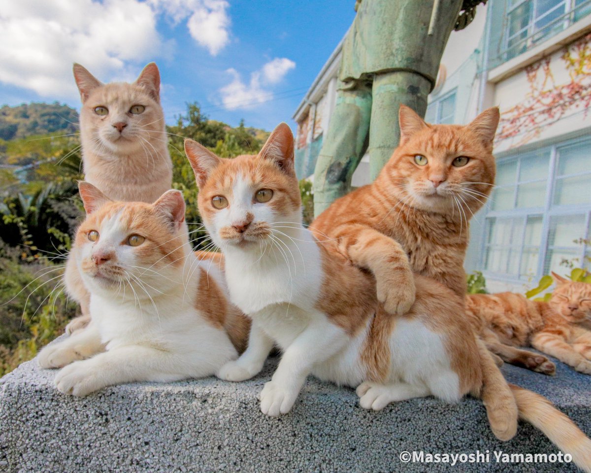
[[[24,363],[0,380],[0,471],[577,471],[572,464],[495,462],[493,451],[557,448],[524,423],[514,439],[501,442],[474,399],[455,405],[416,399],[367,412],[352,389],[310,377],[290,414],[266,417],[256,396],[276,363],[269,359],[245,383],[135,383],[84,399],[54,388],[57,371]],[[511,383],[548,397],[591,435],[591,378],[560,363],[557,368],[556,377],[508,365],[503,370]],[[403,451],[489,451],[489,462],[403,464]]]

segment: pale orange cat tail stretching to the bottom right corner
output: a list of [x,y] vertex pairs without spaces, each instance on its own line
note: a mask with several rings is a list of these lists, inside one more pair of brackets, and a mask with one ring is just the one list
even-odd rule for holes
[[561,452],[569,453],[580,469],[591,473],[591,440],[544,396],[509,384],[519,417],[540,429]]

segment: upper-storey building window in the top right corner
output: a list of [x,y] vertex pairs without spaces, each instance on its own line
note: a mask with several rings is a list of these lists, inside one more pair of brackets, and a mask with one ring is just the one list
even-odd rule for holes
[[505,50],[509,60],[591,13],[591,0],[506,0]]

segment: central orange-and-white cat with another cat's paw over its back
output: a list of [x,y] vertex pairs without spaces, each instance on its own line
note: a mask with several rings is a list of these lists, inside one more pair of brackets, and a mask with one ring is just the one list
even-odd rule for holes
[[[242,381],[261,371],[277,344],[283,354],[260,393],[261,410],[291,410],[309,374],[357,387],[360,404],[436,396],[456,402],[482,388],[476,337],[457,315],[462,297],[415,276],[416,300],[401,317],[378,303],[374,277],[353,266],[335,241],[317,241],[301,223],[293,135],[279,125],[257,156],[218,158],[192,140],[185,150],[199,186],[199,210],[225,255],[233,303],[252,319],[248,348],[218,376]],[[543,397],[512,387],[519,415],[591,471],[591,440]],[[512,413],[486,409],[491,428],[511,438]],[[509,418],[505,418],[508,416]]]

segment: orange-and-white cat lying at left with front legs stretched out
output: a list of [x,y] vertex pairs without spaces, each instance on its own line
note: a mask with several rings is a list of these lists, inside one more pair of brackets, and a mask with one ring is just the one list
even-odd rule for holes
[[64,367],[57,388],[86,396],[113,384],[197,378],[235,359],[230,338],[243,345],[247,321],[217,268],[194,255],[180,191],[154,204],[113,202],[81,182],[80,195],[87,218],[74,245],[92,317],[38,355],[42,368]]

